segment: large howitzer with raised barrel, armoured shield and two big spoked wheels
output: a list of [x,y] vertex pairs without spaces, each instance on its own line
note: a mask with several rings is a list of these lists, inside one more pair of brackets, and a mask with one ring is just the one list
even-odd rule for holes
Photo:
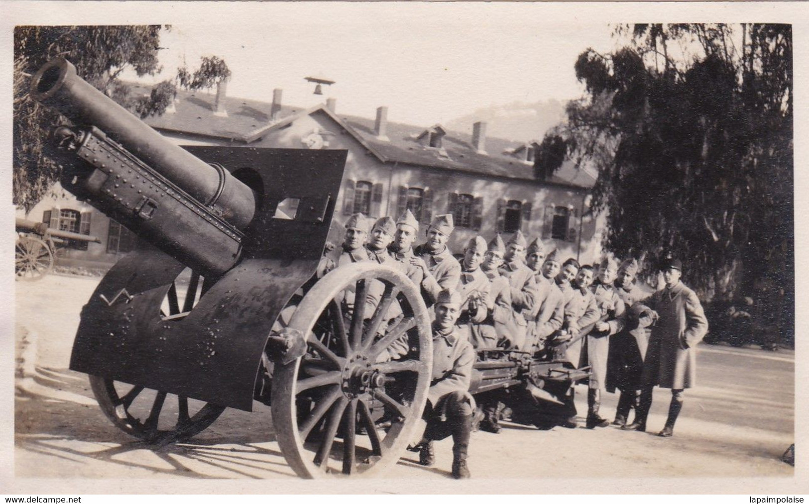
[[[63,59],[31,95],[73,123],[53,135],[63,187],[144,243],[83,307],[70,358],[116,426],[167,443],[259,400],[301,476],[399,459],[430,386],[419,290],[372,262],[309,282],[344,150],[175,146]],[[376,362],[402,337],[409,354]]]

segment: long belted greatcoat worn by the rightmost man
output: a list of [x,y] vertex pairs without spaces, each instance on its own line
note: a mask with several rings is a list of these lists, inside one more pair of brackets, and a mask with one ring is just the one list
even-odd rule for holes
[[708,320],[693,290],[677,282],[640,302],[657,311],[652,327],[641,381],[645,386],[691,388],[697,382],[694,348],[708,332]]

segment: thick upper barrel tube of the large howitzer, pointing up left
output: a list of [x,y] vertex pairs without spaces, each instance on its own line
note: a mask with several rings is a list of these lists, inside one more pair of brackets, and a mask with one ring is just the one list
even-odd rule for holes
[[76,125],[93,125],[188,195],[213,207],[226,222],[244,229],[256,212],[252,189],[227,170],[205,163],[176,146],[121,105],[78,77],[64,58],[49,61],[34,74],[32,99],[57,108]]

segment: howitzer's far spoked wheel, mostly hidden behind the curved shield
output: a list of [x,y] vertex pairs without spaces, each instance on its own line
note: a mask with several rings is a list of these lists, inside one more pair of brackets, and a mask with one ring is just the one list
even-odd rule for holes
[[[163,320],[188,315],[206,287],[199,273],[185,269],[163,299]],[[116,427],[149,443],[190,438],[207,429],[225,410],[218,404],[100,376],[90,376],[90,385],[101,410]]]

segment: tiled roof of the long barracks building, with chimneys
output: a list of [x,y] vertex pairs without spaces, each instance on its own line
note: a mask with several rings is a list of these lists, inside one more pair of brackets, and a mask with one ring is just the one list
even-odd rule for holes
[[[149,87],[137,84],[132,86],[135,93],[145,94],[149,89]],[[264,133],[263,130],[272,129],[270,121],[272,104],[267,102],[226,97],[227,116],[219,116],[214,114],[214,95],[212,94],[179,91],[177,98],[175,112],[149,117],[146,119],[146,123],[155,129],[229,138],[237,142],[252,142],[257,138],[256,133]],[[302,112],[311,112],[311,109],[306,111],[303,108],[282,106],[277,121],[290,120],[290,116]],[[536,180],[532,164],[524,163],[513,155],[504,154],[509,150],[519,149],[524,142],[487,137],[485,154],[481,154],[472,147],[471,134],[447,131],[442,139],[442,149],[435,149],[423,146],[418,140],[421,133],[428,129],[425,126],[404,125],[388,121],[386,132],[388,140],[386,141],[376,137],[374,119],[344,114],[337,114],[337,117],[385,162],[436,167],[518,180]],[[589,172],[578,170],[573,163],[564,163],[547,182],[590,188],[595,183],[595,179]]]

